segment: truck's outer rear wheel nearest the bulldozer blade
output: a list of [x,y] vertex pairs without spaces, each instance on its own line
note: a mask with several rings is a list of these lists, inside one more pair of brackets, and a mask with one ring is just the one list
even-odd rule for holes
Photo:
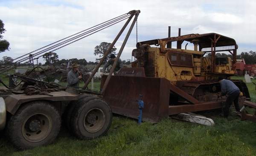
[[72,131],[79,139],[93,139],[107,133],[112,111],[101,98],[87,97],[79,101],[73,111]]

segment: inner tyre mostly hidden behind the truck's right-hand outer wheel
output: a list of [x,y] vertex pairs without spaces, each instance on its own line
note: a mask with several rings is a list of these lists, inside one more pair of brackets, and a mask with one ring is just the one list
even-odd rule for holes
[[79,103],[79,101],[81,101],[82,99],[84,99],[84,98],[86,98],[88,96],[91,96],[91,95],[88,95],[88,94],[81,94],[81,95],[79,95],[79,99],[77,101],[70,102],[70,104],[65,109],[64,122],[65,122],[65,125],[66,125],[67,129],[70,132],[72,132],[71,125],[70,125],[70,123],[71,123],[70,120],[71,120],[71,116],[72,116],[73,110],[76,107],[77,103]]

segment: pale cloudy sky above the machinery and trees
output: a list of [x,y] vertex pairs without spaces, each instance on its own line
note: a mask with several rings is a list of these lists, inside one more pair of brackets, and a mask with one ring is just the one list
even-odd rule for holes
[[[10,43],[10,50],[0,53],[0,58],[16,58],[131,10],[141,11],[137,21],[139,42],[166,38],[168,26],[171,26],[172,37],[177,36],[178,28],[181,28],[181,35],[214,32],[235,39],[238,54],[256,51],[255,8],[253,0],[0,0],[0,20],[6,29],[3,39]],[[55,52],[60,60],[95,61],[95,46],[112,43],[124,23]],[[125,34],[115,45],[117,52]],[[121,59],[131,59],[134,48],[135,27]]]

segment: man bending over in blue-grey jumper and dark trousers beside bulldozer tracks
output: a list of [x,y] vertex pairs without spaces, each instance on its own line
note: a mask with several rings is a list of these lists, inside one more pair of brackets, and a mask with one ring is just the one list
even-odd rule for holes
[[230,80],[223,79],[221,77],[218,78],[218,82],[221,84],[221,95],[227,94],[227,99],[224,107],[224,117],[229,115],[229,109],[232,103],[234,102],[235,108],[237,112],[240,112],[239,108],[239,88]]

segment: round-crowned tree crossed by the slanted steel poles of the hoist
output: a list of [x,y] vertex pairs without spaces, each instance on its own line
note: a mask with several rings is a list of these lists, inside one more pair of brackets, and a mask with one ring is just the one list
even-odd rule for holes
[[[94,48],[94,55],[95,56],[99,55],[99,58],[97,58],[96,61],[99,61],[103,57],[103,55],[108,50],[110,45],[111,45],[111,43],[102,42],[102,43],[100,43],[100,45],[97,45]],[[115,46],[113,46],[113,48],[109,52],[108,57],[106,57],[106,59],[104,60],[104,63],[106,63],[109,60],[111,54],[115,54],[116,55],[116,48],[115,48]]]

